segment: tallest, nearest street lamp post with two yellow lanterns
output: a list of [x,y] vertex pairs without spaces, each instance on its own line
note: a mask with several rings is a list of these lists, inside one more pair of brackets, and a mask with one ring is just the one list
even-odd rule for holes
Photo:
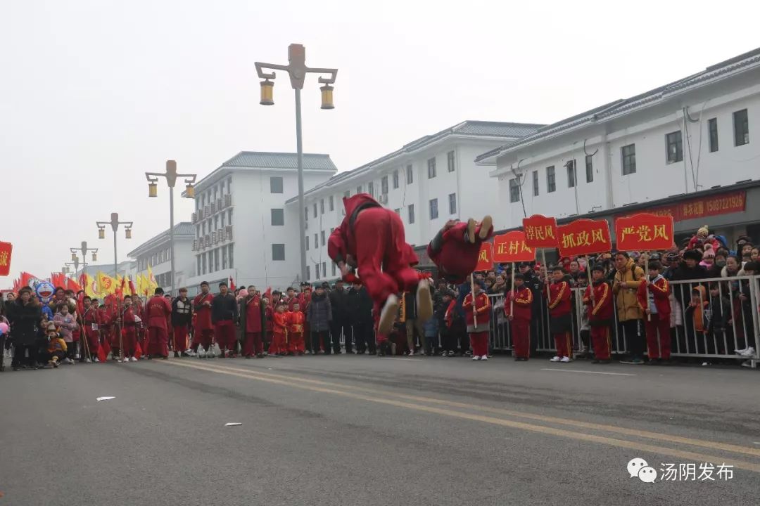
[[290,44],[287,48],[288,64],[278,65],[271,63],[261,63],[261,61],[255,62],[256,72],[258,77],[263,79],[261,81],[261,105],[274,105],[274,72],[266,73],[264,69],[270,71],[286,71],[290,75],[290,86],[293,86],[293,90],[296,90],[296,149],[298,152],[298,206],[299,206],[299,231],[301,238],[299,244],[301,245],[301,279],[306,280],[306,216],[304,215],[304,199],[303,199],[303,146],[301,140],[301,90],[303,89],[303,80],[306,78],[306,74],[330,74],[329,77],[319,77],[319,83],[323,84],[319,90],[321,90],[323,109],[334,108],[333,105],[333,86],[330,86],[335,82],[337,77],[337,68],[309,68],[306,67],[306,48],[302,44]]

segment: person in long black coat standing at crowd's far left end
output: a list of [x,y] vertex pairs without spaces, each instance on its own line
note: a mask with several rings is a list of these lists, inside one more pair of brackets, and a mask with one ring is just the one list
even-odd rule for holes
[[32,298],[32,289],[21,288],[18,298],[8,306],[8,321],[13,332],[13,370],[21,369],[24,354],[29,352],[27,365],[37,368],[37,332],[42,321],[42,306]]

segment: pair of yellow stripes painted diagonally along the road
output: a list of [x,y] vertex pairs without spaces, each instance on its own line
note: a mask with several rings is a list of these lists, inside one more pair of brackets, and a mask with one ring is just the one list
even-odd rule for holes
[[[269,373],[260,373],[260,372],[245,370],[245,369],[233,370],[233,368],[218,368],[217,366],[205,366],[205,365],[201,366],[200,364],[195,365],[195,364],[189,364],[189,363],[180,363],[176,361],[163,362],[163,363],[168,364],[168,365],[173,365],[173,366],[199,369],[206,372],[216,372],[218,374],[226,374],[228,376],[237,376],[239,378],[256,379],[258,381],[273,383],[276,385],[286,385],[293,388],[301,388],[302,390],[318,391],[318,392],[326,393],[326,394],[336,394],[345,398],[353,398],[353,399],[358,399],[361,401],[369,401],[376,404],[387,404],[387,405],[395,406],[395,407],[404,407],[410,410],[423,411],[425,413],[435,413],[442,416],[451,416],[454,418],[461,418],[464,420],[473,420],[473,421],[478,421],[478,422],[483,422],[483,423],[490,423],[492,425],[511,427],[513,429],[522,429],[522,430],[527,430],[530,432],[540,432],[543,434],[556,435],[559,437],[571,438],[571,439],[576,439],[580,441],[597,442],[603,445],[615,446],[617,448],[629,448],[636,451],[647,451],[653,454],[668,455],[670,457],[679,457],[682,459],[692,460],[692,461],[697,461],[697,462],[710,462],[716,465],[728,463],[728,464],[733,464],[734,467],[737,467],[739,469],[749,470],[754,473],[760,473],[760,464],[754,464],[752,462],[746,462],[743,460],[731,460],[725,457],[717,457],[717,456],[708,455],[708,454],[699,454],[692,451],[682,451],[682,450],[676,450],[674,448],[664,448],[660,446],[647,445],[644,443],[625,441],[623,439],[609,438],[606,436],[584,434],[581,432],[572,432],[565,429],[556,429],[554,427],[516,422],[513,420],[504,420],[504,419],[496,418],[493,416],[484,416],[484,415],[478,415],[478,414],[473,414],[473,413],[462,413],[461,411],[451,411],[451,410],[445,410],[442,408],[431,407],[431,406],[421,406],[420,404],[410,404],[403,401],[396,401],[394,399],[369,397],[368,395],[355,394],[348,391],[335,390],[334,388],[324,388],[320,386],[302,385],[297,382],[289,381],[289,380],[292,380],[292,378],[287,377],[287,376],[280,376],[280,378],[283,378],[283,379],[280,379],[277,377],[268,377],[268,376],[278,376],[278,375],[272,375]],[[237,372],[237,371],[241,371],[241,372]],[[306,380],[306,382],[312,382],[312,383],[317,383],[317,384],[324,383],[324,382],[318,382],[318,380]],[[339,385],[339,384],[330,384],[330,385],[337,385],[340,388],[350,388],[349,385]],[[394,395],[392,392],[384,392],[384,391],[375,392],[375,393],[384,393],[384,394]],[[423,401],[429,401],[429,400],[423,398]],[[467,406],[467,404],[464,404],[464,406]],[[557,420],[562,420],[562,419],[557,419]],[[667,437],[667,440],[675,441],[675,439],[673,439],[673,436]],[[695,441],[698,441],[698,440],[695,440]],[[704,442],[704,443],[709,443],[709,442]],[[736,447],[736,448],[741,448],[741,447]],[[742,449],[744,450],[745,448],[742,448]]]

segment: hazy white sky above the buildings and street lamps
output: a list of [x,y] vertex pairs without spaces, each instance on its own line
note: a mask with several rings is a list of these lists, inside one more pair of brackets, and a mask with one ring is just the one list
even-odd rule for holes
[[[760,2],[2,0],[0,240],[11,285],[46,277],[111,212],[119,256],[169,227],[144,171],[204,176],[241,150],[294,151],[293,91],[258,105],[254,61],[338,68],[303,91],[304,149],[341,171],[465,119],[550,123],[760,46]],[[178,199],[176,216],[192,203]],[[495,212],[498,212],[495,210]],[[110,234],[110,231],[108,232]]]

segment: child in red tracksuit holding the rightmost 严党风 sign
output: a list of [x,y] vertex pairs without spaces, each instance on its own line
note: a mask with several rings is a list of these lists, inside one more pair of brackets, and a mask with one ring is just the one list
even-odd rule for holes
[[[638,306],[646,313],[644,328],[647,332],[647,365],[667,365],[670,360],[670,284],[660,274],[662,265],[649,262],[649,279],[638,286]],[[649,291],[649,297],[647,297]],[[657,339],[659,333],[660,339]]]

